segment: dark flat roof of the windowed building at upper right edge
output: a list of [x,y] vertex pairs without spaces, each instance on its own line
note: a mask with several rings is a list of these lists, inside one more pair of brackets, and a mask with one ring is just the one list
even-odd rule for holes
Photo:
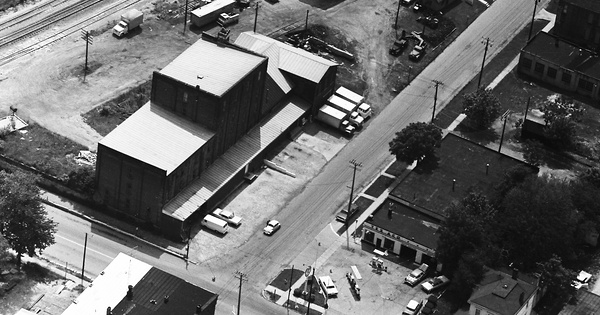
[[598,55],[546,32],[539,32],[522,51],[559,67],[600,79]]

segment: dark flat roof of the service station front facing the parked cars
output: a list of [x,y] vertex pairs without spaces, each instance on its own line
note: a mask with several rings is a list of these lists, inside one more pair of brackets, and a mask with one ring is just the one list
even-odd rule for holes
[[415,211],[393,196],[375,209],[367,222],[432,250],[437,248],[440,220]]

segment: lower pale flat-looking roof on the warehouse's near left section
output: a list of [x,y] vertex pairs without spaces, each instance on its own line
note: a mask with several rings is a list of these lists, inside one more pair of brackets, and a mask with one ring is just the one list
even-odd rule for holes
[[148,102],[100,144],[168,175],[213,136],[212,131]]

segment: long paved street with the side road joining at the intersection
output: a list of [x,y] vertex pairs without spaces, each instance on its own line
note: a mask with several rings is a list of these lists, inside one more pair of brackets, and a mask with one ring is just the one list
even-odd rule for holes
[[[538,8],[544,6],[542,3]],[[186,266],[180,259],[143,247],[135,240],[115,236],[49,209],[61,224],[61,232],[57,235],[59,244],[46,250],[45,255],[80,264],[82,256],[78,252],[81,253],[83,237],[88,232],[90,251],[86,270],[90,275],[97,274],[108,264],[109,257],[116,256],[119,251],[130,252],[145,262],[218,293],[218,313],[231,314],[233,305],[237,305],[239,285],[233,272],[239,270],[248,275],[242,292],[242,313],[281,314],[284,311],[281,307],[267,302],[259,294],[264,285],[282,267],[289,266],[298,252],[333,220],[339,206],[347,202],[352,176],[348,161],[356,159],[363,164],[362,171],[357,174],[358,189],[392,160],[388,142],[395,132],[411,122],[431,119],[434,93],[431,80],[443,83],[438,93],[439,112],[478,73],[484,50],[482,38],[489,37],[493,43],[488,51],[490,60],[530,20],[532,13],[533,0],[495,2],[281,210],[278,219],[284,228],[273,237],[256,235],[215,260]],[[215,282],[211,281],[213,276]],[[333,310],[328,312],[335,313]]]

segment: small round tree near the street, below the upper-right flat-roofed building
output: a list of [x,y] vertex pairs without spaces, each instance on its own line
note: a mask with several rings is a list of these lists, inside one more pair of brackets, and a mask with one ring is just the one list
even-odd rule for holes
[[463,112],[477,129],[487,129],[500,114],[500,101],[491,89],[478,89],[464,95]]

